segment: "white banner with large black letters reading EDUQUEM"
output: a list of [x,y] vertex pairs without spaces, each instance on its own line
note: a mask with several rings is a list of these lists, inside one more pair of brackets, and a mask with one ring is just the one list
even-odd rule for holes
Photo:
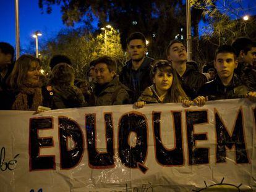
[[0,111],[0,191],[255,191],[255,104]]

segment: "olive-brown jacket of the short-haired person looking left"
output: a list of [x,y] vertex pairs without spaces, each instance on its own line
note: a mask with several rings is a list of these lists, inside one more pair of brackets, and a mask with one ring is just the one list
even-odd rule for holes
[[129,91],[129,88],[123,85],[118,77],[114,77],[112,81],[103,86],[95,84],[89,106],[130,104],[127,91]]

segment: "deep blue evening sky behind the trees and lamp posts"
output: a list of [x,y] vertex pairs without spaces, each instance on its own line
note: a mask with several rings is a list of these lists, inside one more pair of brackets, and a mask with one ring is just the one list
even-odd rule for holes
[[[15,46],[14,2],[14,0],[0,0],[0,41],[6,41],[13,46]],[[239,15],[256,14],[255,0],[244,0],[244,7],[246,9],[239,12]],[[43,41],[54,36],[61,28],[66,28],[61,20],[60,6],[53,6],[53,12],[46,14],[46,12],[42,13],[42,10],[39,9],[38,0],[19,0],[19,11],[21,48],[26,48],[30,42],[33,41],[32,34],[36,30],[40,30],[41,33],[43,33],[43,36],[39,39],[39,41]],[[201,22],[200,28],[202,28],[203,25],[204,24]],[[202,31],[201,29],[199,30]]]

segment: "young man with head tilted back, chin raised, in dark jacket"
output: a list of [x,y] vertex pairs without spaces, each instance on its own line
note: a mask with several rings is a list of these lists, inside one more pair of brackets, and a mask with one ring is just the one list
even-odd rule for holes
[[176,70],[187,96],[192,99],[196,98],[197,91],[207,82],[207,77],[187,62],[187,51],[184,44],[181,41],[172,40],[166,49],[166,56],[168,61],[171,61],[173,69]]

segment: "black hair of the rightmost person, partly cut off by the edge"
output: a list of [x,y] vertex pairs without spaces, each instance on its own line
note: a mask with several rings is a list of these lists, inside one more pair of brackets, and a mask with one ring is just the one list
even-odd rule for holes
[[253,41],[250,40],[249,38],[245,37],[240,37],[237,38],[233,43],[232,43],[233,48],[236,51],[236,56],[238,57],[241,51],[244,51],[245,54],[247,54],[250,49],[252,49],[253,46]]

